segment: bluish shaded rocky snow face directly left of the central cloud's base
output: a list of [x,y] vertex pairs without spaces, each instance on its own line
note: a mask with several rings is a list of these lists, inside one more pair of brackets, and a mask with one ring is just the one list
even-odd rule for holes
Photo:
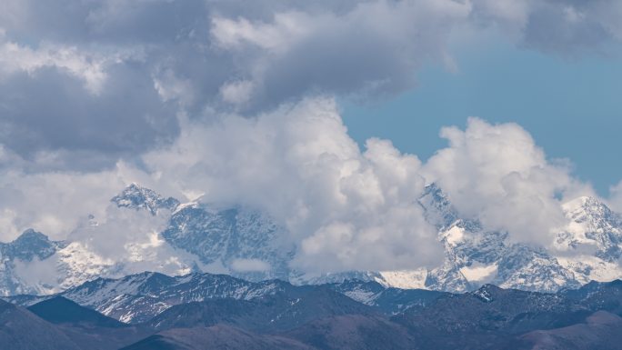
[[208,266],[249,280],[288,279],[294,247],[283,245],[286,230],[256,210],[216,209],[191,203],[180,205],[162,237]]

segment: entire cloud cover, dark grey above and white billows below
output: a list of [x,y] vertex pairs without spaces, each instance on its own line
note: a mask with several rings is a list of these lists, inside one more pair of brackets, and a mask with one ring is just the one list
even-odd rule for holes
[[591,190],[518,125],[446,128],[422,165],[386,140],[359,149],[333,97],[414,87],[463,29],[567,55],[619,41],[620,15],[615,0],[2,1],[0,238],[63,237],[136,181],[266,210],[303,269],[412,268],[440,257],[415,202],[435,181],[462,214],[547,244],[560,201]]

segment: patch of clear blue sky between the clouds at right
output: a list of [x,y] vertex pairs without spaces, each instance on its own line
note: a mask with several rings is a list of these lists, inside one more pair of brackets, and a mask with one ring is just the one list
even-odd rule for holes
[[549,158],[568,158],[575,174],[601,195],[622,180],[622,60],[594,53],[547,55],[489,40],[453,52],[458,71],[428,65],[418,85],[372,104],[342,102],[348,132],[359,144],[390,139],[426,160],[446,145],[445,125],[468,116],[515,122]]

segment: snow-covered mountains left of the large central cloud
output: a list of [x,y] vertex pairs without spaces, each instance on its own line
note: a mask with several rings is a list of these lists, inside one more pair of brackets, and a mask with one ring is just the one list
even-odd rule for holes
[[284,233],[256,210],[180,205],[132,184],[111,199],[103,222],[88,217],[64,242],[26,231],[0,245],[0,295],[54,294],[143,271],[287,280],[294,247],[282,245]]

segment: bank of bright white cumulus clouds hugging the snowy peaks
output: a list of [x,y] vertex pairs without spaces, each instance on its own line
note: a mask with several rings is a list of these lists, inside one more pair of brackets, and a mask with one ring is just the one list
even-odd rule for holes
[[[256,118],[182,118],[181,136],[142,155],[142,169],[119,163],[114,171],[87,174],[6,172],[0,224],[8,227],[6,235],[33,225],[62,237],[95,214],[103,220],[99,234],[86,236],[98,237],[87,243],[97,255],[157,253],[157,239],[147,235],[157,231],[156,221],[107,208],[110,196],[135,181],[182,200],[202,194],[202,201],[216,205],[265,211],[291,233],[283,238],[298,246],[293,264],[300,271],[393,270],[434,266],[442,257],[436,228],[416,203],[431,182],[461,215],[537,245],[550,245],[566,223],[561,203],[592,194],[564,162],[547,159],[519,125],[471,118],[464,130],[446,127],[441,136],[449,145],[425,164],[386,140],[369,139],[361,150],[328,97],[281,105]],[[61,205],[50,205],[50,198]],[[80,232],[72,240],[79,241]]]

